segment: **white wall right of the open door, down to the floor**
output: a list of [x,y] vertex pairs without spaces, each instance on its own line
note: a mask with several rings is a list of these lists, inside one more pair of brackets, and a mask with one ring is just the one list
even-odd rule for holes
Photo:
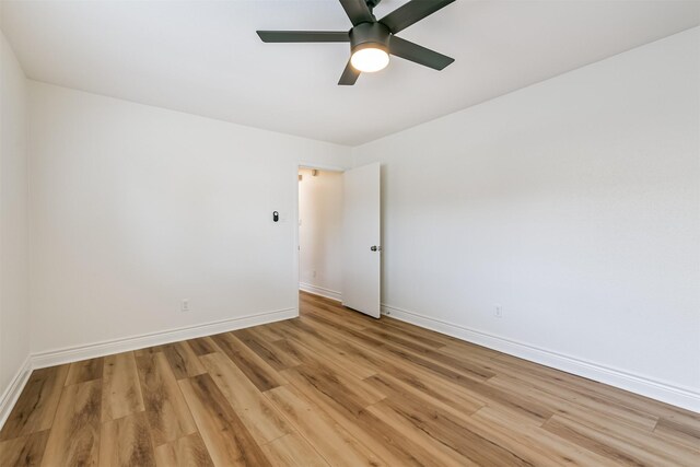
[[354,149],[383,164],[386,310],[700,410],[699,44]]

